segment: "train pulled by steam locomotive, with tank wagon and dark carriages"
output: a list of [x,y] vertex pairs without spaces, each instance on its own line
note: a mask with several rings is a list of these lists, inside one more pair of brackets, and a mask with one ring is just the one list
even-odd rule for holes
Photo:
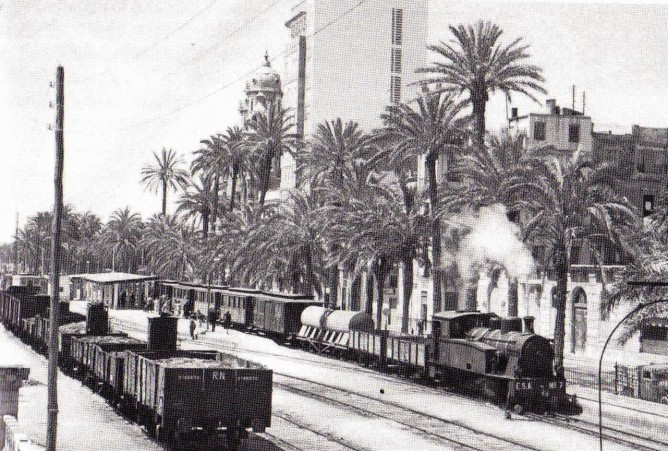
[[[512,407],[516,412],[578,414],[577,399],[552,366],[551,342],[533,332],[533,318],[446,311],[433,315],[427,337],[376,330],[369,313],[331,310],[309,296],[175,281],[157,293],[192,309],[229,312],[232,325],[305,350],[334,354],[418,376]],[[208,302],[207,302],[208,301]]]

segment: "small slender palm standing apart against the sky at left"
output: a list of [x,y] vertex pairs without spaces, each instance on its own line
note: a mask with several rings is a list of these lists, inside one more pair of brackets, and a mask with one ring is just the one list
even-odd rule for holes
[[140,182],[147,189],[158,192],[162,189],[162,214],[167,214],[167,191],[183,187],[188,181],[188,172],[181,168],[183,160],[177,156],[173,149],[162,148],[158,155],[153,152],[155,161],[153,164],[144,165],[141,170],[142,178]]

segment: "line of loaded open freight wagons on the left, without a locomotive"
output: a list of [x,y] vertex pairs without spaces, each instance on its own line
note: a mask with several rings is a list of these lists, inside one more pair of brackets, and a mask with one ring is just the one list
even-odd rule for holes
[[[22,287],[0,292],[2,323],[41,351],[49,329],[39,333],[35,324],[48,316],[44,299]],[[103,304],[89,304],[87,313],[60,315],[61,370],[168,449],[234,449],[249,429],[271,426],[270,369],[217,350],[177,349],[178,318],[170,315],[149,317],[148,340],[141,341],[111,331]]]

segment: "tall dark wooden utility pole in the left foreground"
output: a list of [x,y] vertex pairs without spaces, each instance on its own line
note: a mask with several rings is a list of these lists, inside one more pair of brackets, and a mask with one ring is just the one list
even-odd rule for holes
[[58,325],[60,300],[60,223],[63,214],[63,124],[65,117],[65,69],[58,66],[56,71],[56,167],[53,177],[55,188],[53,205],[53,226],[51,233],[51,317],[49,327],[49,380],[48,417],[46,426],[46,449],[56,451],[58,431]]

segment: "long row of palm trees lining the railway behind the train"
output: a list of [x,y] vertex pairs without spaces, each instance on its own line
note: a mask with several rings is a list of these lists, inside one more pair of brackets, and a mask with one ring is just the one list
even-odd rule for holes
[[[352,281],[351,308],[372,312],[374,301],[378,324],[387,276],[401,265],[407,300],[402,331],[407,332],[417,269],[432,276],[434,309],[455,307],[443,302],[444,280],[456,280],[462,268],[447,261],[443,251],[456,252],[470,232],[455,218],[500,203],[519,224],[521,239],[546,249],[542,263],[557,273],[560,365],[571,250],[584,244],[596,256],[602,243],[622,243],[637,233],[637,215],[610,189],[605,168],[582,156],[546,159],[540,149],[526,150],[521,136],[489,136],[489,96],[499,91],[534,98],[545,92],[541,70],[526,63],[521,39],[500,44],[502,31],[494,24],[450,30],[453,41],[430,47],[439,60],[421,69],[426,74],[422,95],[388,106],[378,130],[365,132],[339,118],[319,124],[304,141],[293,132],[290,113],[273,105],[244,129],[228,128],[202,140],[190,171],[173,150],[155,153],[141,182],[161,191],[162,213],[142,222],[124,209],[107,224],[98,220],[87,241],[72,239],[72,249],[82,249],[74,265],[96,253],[101,267],[144,266],[162,277],[278,286],[320,296],[329,291],[334,298],[343,272]],[[298,189],[284,202],[267,201],[273,168],[287,153],[298,162]],[[425,189],[414,177],[420,165]],[[179,190],[178,207],[170,215],[168,193]],[[30,243],[43,243],[37,222]],[[37,267],[28,250],[33,244],[23,242],[25,260]],[[372,283],[368,302],[360,306],[364,272]],[[459,285],[462,292],[475,281]],[[517,283],[510,287],[516,310]],[[468,306],[475,307],[470,300]]]

